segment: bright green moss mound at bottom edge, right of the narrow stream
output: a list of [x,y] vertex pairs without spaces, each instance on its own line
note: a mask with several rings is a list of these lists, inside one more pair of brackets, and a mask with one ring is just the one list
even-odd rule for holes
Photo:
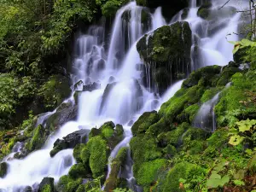
[[165,169],[167,160],[157,159],[143,163],[137,174],[137,183],[143,187],[149,187],[157,181],[158,174]]

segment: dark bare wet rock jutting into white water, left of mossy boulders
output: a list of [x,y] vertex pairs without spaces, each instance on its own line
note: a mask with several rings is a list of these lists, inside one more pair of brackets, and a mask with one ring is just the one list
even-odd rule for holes
[[86,143],[89,131],[79,130],[75,131],[63,139],[57,139],[54,143],[54,148],[50,151],[50,156],[53,157],[63,149],[74,148],[79,143]]

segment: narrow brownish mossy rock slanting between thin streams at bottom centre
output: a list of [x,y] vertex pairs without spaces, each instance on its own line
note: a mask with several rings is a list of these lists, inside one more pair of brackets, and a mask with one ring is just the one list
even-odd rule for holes
[[110,192],[116,189],[121,182],[119,171],[125,167],[125,160],[127,156],[128,148],[120,148],[119,153],[111,162],[111,172],[105,183],[104,191]]

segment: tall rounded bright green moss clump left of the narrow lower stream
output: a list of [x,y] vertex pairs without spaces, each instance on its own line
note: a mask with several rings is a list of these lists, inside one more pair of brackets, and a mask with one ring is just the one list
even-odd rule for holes
[[104,175],[105,168],[108,163],[108,148],[107,143],[102,137],[92,137],[87,143],[87,148],[90,151],[90,170],[93,177],[100,177]]

